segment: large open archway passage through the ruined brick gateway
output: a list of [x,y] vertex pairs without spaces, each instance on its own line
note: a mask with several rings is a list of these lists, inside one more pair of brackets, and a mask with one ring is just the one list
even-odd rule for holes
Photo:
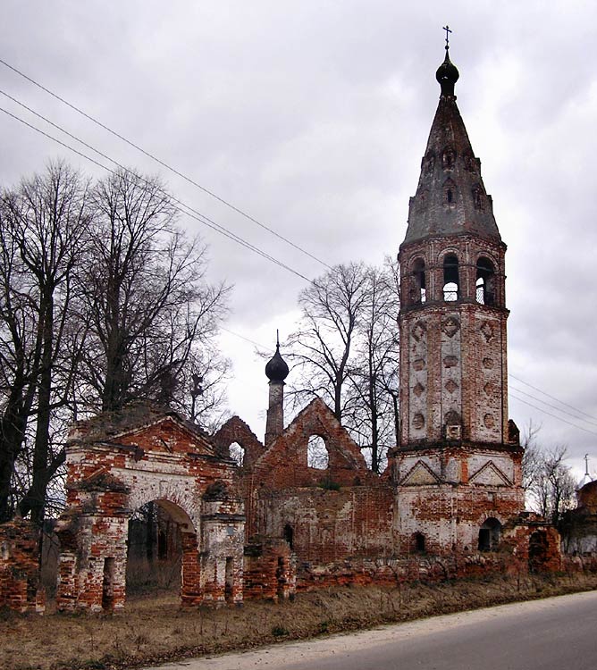
[[181,596],[198,592],[197,531],[187,512],[167,498],[136,507],[127,534],[127,595],[179,587]]

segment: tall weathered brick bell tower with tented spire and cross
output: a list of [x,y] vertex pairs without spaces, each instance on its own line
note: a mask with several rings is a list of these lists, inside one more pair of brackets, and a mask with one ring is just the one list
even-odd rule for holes
[[399,537],[402,550],[426,541],[439,553],[480,549],[483,523],[495,539],[524,508],[508,419],[506,245],[458,111],[458,77],[446,38],[440,102],[399,248]]

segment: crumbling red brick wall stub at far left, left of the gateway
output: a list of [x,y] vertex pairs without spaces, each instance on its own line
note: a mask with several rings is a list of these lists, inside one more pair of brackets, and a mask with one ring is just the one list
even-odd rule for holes
[[0,607],[39,614],[46,607],[39,585],[39,532],[27,521],[0,525]]

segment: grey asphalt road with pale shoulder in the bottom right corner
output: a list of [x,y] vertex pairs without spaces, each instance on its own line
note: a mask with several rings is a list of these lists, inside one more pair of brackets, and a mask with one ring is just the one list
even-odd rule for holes
[[[280,644],[160,670],[593,670],[597,591]],[[151,670],[154,670],[153,668]]]

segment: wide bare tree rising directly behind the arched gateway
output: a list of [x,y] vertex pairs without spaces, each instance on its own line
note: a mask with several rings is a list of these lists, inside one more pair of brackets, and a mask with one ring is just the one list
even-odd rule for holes
[[205,281],[206,248],[176,229],[176,207],[156,177],[116,172],[97,184],[92,203],[95,234],[81,283],[88,405],[181,404],[187,367],[195,369],[186,377],[199,374],[204,386],[207,369],[225,372],[225,363],[213,364],[211,343],[229,289]]

